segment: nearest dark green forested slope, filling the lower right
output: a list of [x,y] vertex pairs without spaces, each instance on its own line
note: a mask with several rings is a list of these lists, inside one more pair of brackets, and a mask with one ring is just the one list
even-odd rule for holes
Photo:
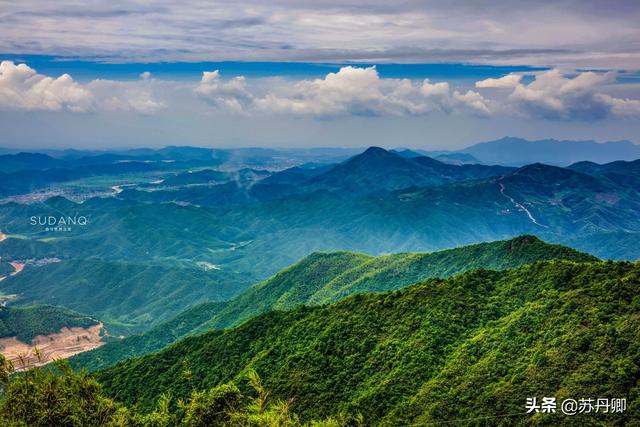
[[527,397],[606,396],[627,398],[628,410],[595,420],[621,423],[640,413],[639,286],[632,263],[477,270],[270,312],[97,378],[109,395],[142,408],[161,393],[185,397],[190,384],[203,389],[255,369],[276,397],[294,398],[303,419],[346,411],[384,425],[496,416],[529,425]]

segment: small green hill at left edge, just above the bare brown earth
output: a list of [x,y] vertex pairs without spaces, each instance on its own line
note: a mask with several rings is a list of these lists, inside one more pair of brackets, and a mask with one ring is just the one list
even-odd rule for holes
[[0,307],[0,338],[17,337],[31,343],[36,335],[49,335],[63,327],[88,328],[98,322],[89,316],[51,305]]

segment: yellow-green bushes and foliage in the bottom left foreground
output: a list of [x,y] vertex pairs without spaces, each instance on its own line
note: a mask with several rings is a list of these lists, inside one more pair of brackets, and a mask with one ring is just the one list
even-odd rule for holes
[[[154,410],[141,414],[104,396],[95,379],[63,362],[53,369],[11,375],[0,355],[0,424],[7,427],[302,427],[289,403],[269,398],[262,381],[249,371],[252,390],[244,395],[233,383],[194,390],[185,401],[162,395]],[[328,418],[310,427],[361,424],[357,417]]]

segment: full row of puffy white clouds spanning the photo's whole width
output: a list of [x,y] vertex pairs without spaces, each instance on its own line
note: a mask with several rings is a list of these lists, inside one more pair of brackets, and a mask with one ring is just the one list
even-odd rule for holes
[[640,118],[640,100],[616,96],[611,91],[616,87],[615,72],[566,74],[554,69],[530,76],[509,74],[485,79],[473,86],[382,78],[375,66],[346,66],[317,79],[224,78],[214,70],[204,72],[196,84],[157,80],[148,72],[132,81],[97,79],[80,83],[68,74],[47,76],[26,64],[3,61],[0,110],[154,115],[168,108],[179,111],[182,101],[167,93],[182,91],[201,111],[244,116],[326,119],[439,113],[564,121]]

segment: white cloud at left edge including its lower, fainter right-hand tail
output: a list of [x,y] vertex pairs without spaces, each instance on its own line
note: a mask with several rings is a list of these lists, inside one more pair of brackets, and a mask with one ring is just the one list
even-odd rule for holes
[[151,75],[143,73],[141,83],[94,80],[80,84],[68,74],[54,78],[39,74],[26,64],[0,63],[0,110],[135,111],[153,114],[165,107],[154,99],[148,85]]

